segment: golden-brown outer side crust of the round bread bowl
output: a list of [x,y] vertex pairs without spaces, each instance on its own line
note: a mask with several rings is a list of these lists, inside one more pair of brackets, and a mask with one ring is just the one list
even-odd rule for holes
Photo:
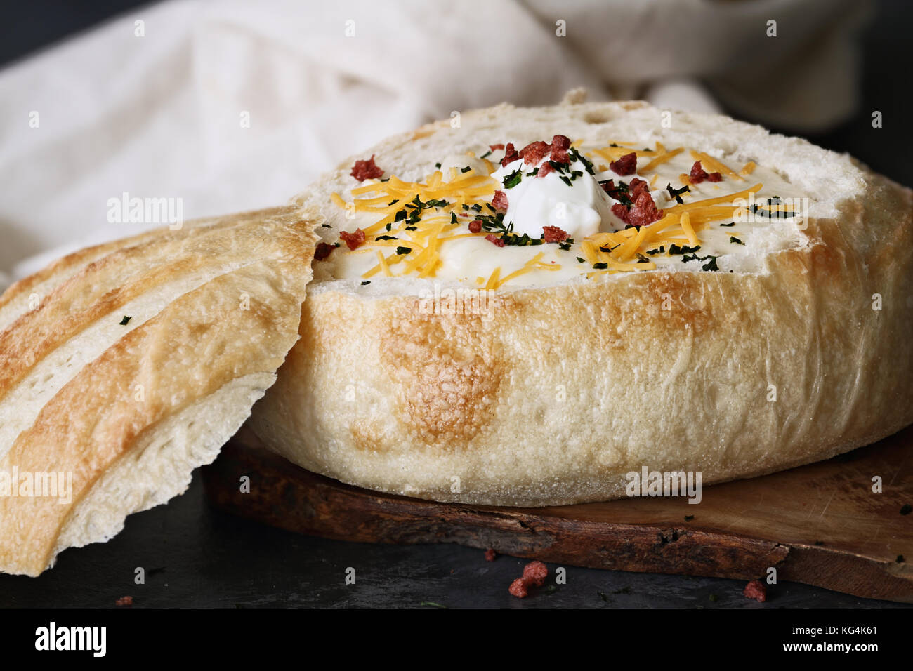
[[709,484],[866,445],[913,422],[913,194],[859,174],[760,274],[519,289],[486,319],[313,286],[252,426],[344,482],[513,506],[624,496],[642,466]]

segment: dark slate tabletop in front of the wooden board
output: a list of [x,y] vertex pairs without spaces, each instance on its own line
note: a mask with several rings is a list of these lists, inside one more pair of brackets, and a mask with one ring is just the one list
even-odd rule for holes
[[[508,586],[525,560],[458,545],[370,545],[299,536],[210,508],[199,474],[184,496],[133,515],[107,543],[64,551],[37,579],[0,575],[0,607],[913,607],[782,582],[766,603],[745,582],[567,568],[524,600]],[[550,564],[554,575],[556,564]],[[133,577],[145,570],[145,584]],[[355,569],[355,584],[345,583]],[[433,605],[436,604],[436,605]]]

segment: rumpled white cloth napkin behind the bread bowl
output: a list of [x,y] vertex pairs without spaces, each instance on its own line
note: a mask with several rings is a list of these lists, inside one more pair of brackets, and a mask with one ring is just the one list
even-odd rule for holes
[[582,86],[821,128],[853,110],[864,14],[851,0],[142,7],[0,71],[0,288],[167,223],[111,221],[123,194],[180,202],[184,219],[282,204],[386,135],[502,100]]

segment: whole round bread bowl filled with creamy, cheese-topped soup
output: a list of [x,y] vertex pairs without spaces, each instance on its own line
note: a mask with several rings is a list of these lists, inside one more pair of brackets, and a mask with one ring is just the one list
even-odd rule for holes
[[[557,135],[577,153],[540,180],[551,195],[533,165],[554,153],[499,164],[498,145]],[[633,215],[635,176],[658,215]],[[562,204],[555,177],[583,195]],[[643,467],[753,477],[913,422],[913,195],[849,156],[641,102],[499,105],[382,142],[294,204],[322,245],[251,425],[320,474],[563,505],[623,497]],[[536,241],[562,218],[561,242]]]

